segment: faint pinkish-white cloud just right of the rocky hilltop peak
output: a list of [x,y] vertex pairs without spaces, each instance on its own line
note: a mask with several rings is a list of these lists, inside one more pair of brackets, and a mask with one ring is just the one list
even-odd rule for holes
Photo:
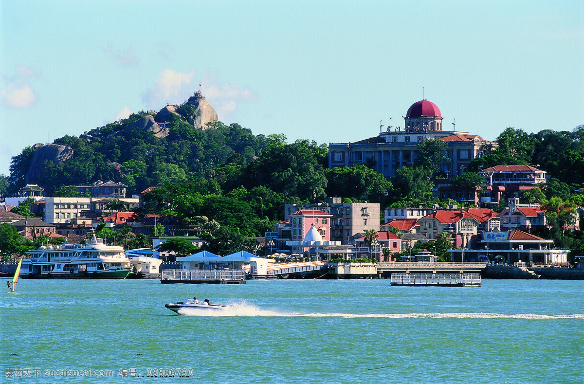
[[201,93],[217,111],[219,120],[224,123],[231,120],[231,115],[237,111],[239,103],[255,102],[258,99],[257,93],[249,88],[236,84],[218,83],[217,76],[211,72],[204,74],[201,81]]

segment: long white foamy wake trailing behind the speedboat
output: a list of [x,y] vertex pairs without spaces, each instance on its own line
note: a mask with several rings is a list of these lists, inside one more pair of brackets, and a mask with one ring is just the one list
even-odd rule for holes
[[539,315],[536,313],[504,314],[504,313],[299,313],[277,312],[276,310],[260,309],[248,303],[236,303],[228,305],[221,311],[201,311],[191,308],[182,308],[180,315],[185,316],[265,316],[265,317],[344,317],[354,319],[359,317],[385,318],[385,319],[584,319],[583,314],[576,315]]

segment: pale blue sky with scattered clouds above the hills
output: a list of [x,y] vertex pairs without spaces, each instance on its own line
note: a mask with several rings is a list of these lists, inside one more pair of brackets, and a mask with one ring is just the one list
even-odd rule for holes
[[288,142],[584,124],[584,2],[0,0],[0,174],[36,143],[203,96]]

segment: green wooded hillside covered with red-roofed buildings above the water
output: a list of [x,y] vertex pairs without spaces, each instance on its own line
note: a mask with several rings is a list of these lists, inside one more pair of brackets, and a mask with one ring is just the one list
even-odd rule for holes
[[584,169],[583,132],[507,128],[488,141],[443,130],[436,104],[420,100],[404,128],[381,127],[377,137],[287,144],[220,123],[199,92],[15,156],[2,175],[0,251],[10,260],[95,229],[126,249],[181,238],[279,260],[428,253],[573,266],[584,256],[584,176],[573,172]]

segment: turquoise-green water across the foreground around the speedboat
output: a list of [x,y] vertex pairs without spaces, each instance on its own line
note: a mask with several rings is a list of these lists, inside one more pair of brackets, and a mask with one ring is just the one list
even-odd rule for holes
[[[71,383],[584,382],[584,281],[20,280],[17,290],[1,295],[0,382],[64,370],[82,371],[60,372]],[[164,308],[193,295],[234,309]],[[158,377],[131,377],[148,373]]]

